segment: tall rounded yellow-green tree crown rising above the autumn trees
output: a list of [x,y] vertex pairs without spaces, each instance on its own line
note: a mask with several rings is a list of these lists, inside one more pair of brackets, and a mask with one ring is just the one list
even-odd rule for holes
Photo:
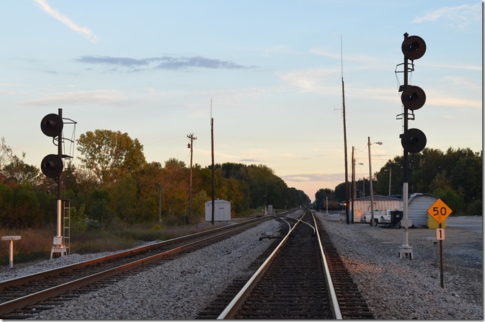
[[81,163],[93,171],[101,185],[110,186],[125,173],[140,171],[146,162],[143,145],[121,131],[87,131],[77,143]]

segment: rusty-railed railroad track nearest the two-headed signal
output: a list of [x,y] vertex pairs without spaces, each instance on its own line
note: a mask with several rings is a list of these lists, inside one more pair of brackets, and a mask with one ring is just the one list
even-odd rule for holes
[[[274,217],[276,216],[258,217],[239,224],[0,282],[0,319],[27,319],[30,317],[29,312],[51,308],[52,301],[56,301],[56,305],[70,301],[79,296],[76,293],[102,288],[116,280],[130,277],[137,270],[156,265],[156,261],[163,258],[201,248]],[[67,295],[59,296],[61,294]]]

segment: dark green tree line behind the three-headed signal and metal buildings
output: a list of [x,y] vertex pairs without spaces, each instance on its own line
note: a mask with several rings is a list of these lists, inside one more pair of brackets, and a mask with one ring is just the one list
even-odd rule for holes
[[[373,173],[375,195],[402,197],[403,164],[402,155],[396,156]],[[440,149],[425,148],[420,153],[410,155],[409,193],[436,195],[453,210],[453,215],[482,215],[482,184],[483,151],[450,147],[443,152]],[[357,198],[369,196],[369,180],[356,180],[355,191]],[[327,197],[341,202],[345,200],[345,183],[338,184],[334,190],[320,189],[315,197],[320,202]]]

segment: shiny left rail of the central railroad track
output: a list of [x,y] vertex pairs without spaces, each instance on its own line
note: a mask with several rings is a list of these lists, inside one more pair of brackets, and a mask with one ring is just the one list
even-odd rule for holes
[[[305,213],[303,213],[302,217],[304,215],[305,215]],[[300,217],[300,219],[301,219],[301,217]],[[300,223],[300,219],[298,219],[298,221],[296,222],[296,224],[293,225],[293,227],[291,227],[291,224],[289,224],[289,222],[287,222],[285,219],[282,219],[284,222],[286,222],[288,224],[288,226],[290,228],[289,232],[287,233],[285,238],[282,239],[280,244],[278,244],[278,246],[276,246],[275,250],[273,250],[273,253],[271,253],[271,255],[269,255],[269,257],[265,260],[265,262],[262,263],[260,268],[258,268],[258,270],[256,270],[256,272],[254,273],[253,276],[251,276],[251,278],[249,279],[249,281],[247,281],[245,286],[243,286],[243,288],[238,292],[238,294],[236,294],[236,297],[234,297],[234,299],[232,299],[232,301],[227,305],[227,307],[223,310],[223,312],[221,312],[219,314],[219,316],[217,317],[218,320],[233,319],[234,314],[240,308],[240,305],[243,304],[247,294],[249,294],[249,292],[251,292],[251,290],[254,288],[254,286],[256,286],[256,283],[258,283],[258,281],[261,279],[263,273],[267,270],[271,261],[273,261],[274,257],[276,257],[276,254],[278,254],[278,252],[280,251],[282,246],[286,243],[287,239],[289,238],[289,236],[291,235],[291,233],[293,232],[295,227]]]

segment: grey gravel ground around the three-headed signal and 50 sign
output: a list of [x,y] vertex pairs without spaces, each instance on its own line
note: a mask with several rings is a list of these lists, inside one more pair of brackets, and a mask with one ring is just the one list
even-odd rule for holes
[[[482,236],[446,229],[444,288],[435,266],[434,229],[409,229],[413,259],[399,258],[403,229],[346,224],[319,215],[375,319],[483,319]],[[438,261],[439,263],[439,261]]]

